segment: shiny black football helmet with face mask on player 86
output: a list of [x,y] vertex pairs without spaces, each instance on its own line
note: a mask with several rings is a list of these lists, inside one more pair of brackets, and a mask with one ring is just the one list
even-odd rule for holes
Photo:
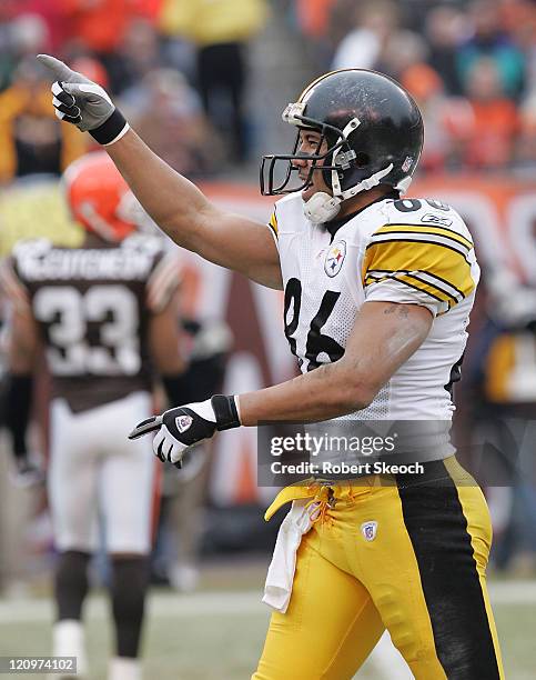
[[[290,154],[264,156],[261,192],[276,196],[302,191],[321,171],[335,203],[375,187],[388,184],[405,192],[423,148],[423,119],[417,104],[392,78],[364,69],[343,69],[321,76],[290,103],[283,120],[321,133],[316,153],[299,153],[300,133]],[[327,150],[321,152],[323,141]],[[295,159],[307,158],[305,181],[292,187]],[[277,163],[286,163],[283,180]],[[294,182],[295,183],[295,182]]]

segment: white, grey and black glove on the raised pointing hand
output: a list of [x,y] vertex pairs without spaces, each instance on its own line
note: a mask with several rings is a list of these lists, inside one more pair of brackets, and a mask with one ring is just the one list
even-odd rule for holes
[[55,79],[52,104],[60,120],[89,132],[104,146],[118,141],[129,130],[129,123],[103,88],[54,57],[38,54],[37,59]]

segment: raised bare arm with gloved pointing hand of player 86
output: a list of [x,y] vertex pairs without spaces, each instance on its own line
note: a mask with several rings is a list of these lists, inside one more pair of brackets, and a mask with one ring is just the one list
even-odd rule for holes
[[175,243],[263,286],[282,288],[277,248],[266,224],[211,203],[130,129],[101,87],[53,57],[38,59],[57,79],[57,116],[104,146],[144,210]]

